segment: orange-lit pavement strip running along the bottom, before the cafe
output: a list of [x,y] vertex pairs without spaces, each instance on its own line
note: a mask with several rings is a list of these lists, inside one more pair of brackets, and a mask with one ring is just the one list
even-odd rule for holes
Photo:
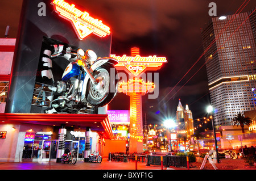
[[[146,166],[145,162],[137,162],[137,170],[162,170],[161,166]],[[200,170],[200,163],[189,163],[189,170]],[[218,170],[256,170],[256,167],[247,167],[242,159],[223,159],[216,163]],[[103,158],[101,163],[85,163],[77,161],[75,165],[56,162],[0,162],[0,170],[135,170],[135,161],[130,162],[109,162]],[[163,170],[188,170],[186,167],[165,167]],[[214,170],[210,163],[206,163],[204,170]]]

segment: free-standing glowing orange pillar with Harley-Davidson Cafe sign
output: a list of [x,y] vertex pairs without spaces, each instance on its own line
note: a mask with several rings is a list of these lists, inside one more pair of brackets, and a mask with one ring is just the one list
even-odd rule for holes
[[146,70],[159,70],[163,63],[167,62],[165,57],[139,55],[139,49],[131,48],[131,56],[116,56],[111,54],[119,61],[115,68],[117,70],[125,70],[132,73],[133,78],[127,82],[118,83],[118,92],[123,92],[130,96],[130,153],[137,151],[143,152],[143,128],[142,128],[142,95],[153,92],[155,84],[153,82],[143,80],[140,75]]

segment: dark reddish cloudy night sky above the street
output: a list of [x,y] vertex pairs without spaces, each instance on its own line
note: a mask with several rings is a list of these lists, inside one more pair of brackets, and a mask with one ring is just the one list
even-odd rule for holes
[[[143,118],[147,113],[148,124],[159,124],[164,119],[175,118],[179,99],[184,107],[188,104],[194,119],[207,116],[206,107],[210,104],[210,98],[205,66],[185,84],[204,64],[204,57],[182,81],[180,79],[203,53],[201,28],[211,18],[208,14],[209,3],[217,4],[217,16],[221,16],[234,14],[245,2],[244,0],[72,0],[67,2],[80,5],[94,18],[101,19],[111,28],[112,54],[130,56],[130,49],[138,47],[141,56],[167,57],[168,63],[157,71],[158,98],[148,99],[147,95],[142,98]],[[11,27],[9,37],[16,37],[21,5],[21,0],[1,2],[0,37],[4,37],[7,25]],[[256,1],[250,1],[242,12],[254,7]],[[109,104],[109,110],[129,110],[129,101],[129,96],[118,93]]]

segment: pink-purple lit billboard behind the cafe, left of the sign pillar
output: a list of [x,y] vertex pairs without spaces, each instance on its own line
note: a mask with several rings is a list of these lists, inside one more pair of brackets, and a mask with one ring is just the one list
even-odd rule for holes
[[111,124],[130,124],[129,110],[108,110],[107,114]]

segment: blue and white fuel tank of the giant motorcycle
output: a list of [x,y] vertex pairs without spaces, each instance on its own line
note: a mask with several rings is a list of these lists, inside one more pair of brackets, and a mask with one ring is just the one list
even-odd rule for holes
[[[65,71],[62,75],[62,80],[67,81],[71,77],[74,77],[76,75],[79,76],[80,71],[81,71],[80,66],[77,65],[76,62],[71,62],[70,64],[68,64],[67,68],[65,69]],[[84,79],[85,74],[81,75],[81,80]]]

